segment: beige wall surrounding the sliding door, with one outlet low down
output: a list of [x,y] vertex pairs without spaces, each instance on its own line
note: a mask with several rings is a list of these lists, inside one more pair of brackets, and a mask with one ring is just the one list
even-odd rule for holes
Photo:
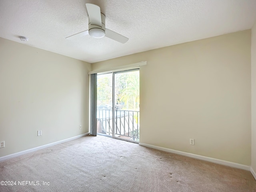
[[140,142],[251,164],[251,30],[94,63],[92,70],[145,60]]

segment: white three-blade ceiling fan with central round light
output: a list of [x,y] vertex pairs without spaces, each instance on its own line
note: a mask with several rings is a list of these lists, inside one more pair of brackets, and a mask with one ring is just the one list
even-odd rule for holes
[[106,16],[100,12],[100,7],[94,4],[86,3],[86,9],[88,12],[88,30],[79,32],[77,34],[66,37],[66,39],[78,38],[85,35],[90,35],[94,38],[102,38],[104,36],[118,41],[120,43],[126,43],[128,38],[122,36],[114,31],[105,28]]

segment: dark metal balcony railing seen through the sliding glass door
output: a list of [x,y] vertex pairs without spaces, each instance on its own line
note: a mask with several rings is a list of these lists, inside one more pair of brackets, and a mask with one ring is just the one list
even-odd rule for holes
[[[115,136],[139,142],[140,140],[140,112],[132,110],[115,110]],[[112,109],[97,110],[98,133],[112,136]]]

